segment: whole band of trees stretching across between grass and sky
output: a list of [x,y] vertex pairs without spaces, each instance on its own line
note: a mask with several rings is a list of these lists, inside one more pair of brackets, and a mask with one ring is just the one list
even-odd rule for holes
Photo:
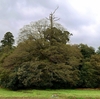
[[69,44],[72,34],[40,20],[20,30],[18,45],[7,32],[0,46],[0,86],[25,88],[99,88],[100,47]]

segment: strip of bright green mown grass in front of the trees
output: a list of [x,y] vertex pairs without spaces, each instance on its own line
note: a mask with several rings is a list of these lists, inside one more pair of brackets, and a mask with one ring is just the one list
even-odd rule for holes
[[0,88],[0,99],[100,99],[100,90],[19,90]]

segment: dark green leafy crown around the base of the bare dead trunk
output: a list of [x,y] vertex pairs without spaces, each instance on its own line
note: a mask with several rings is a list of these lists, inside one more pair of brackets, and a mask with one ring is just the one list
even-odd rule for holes
[[68,31],[61,31],[57,28],[47,29],[43,32],[44,38],[49,40],[51,43],[59,42],[66,44],[69,41],[71,34]]

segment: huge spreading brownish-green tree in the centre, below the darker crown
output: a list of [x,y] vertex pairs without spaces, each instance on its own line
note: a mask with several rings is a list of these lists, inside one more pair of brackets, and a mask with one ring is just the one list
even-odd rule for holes
[[76,46],[59,42],[51,46],[47,40],[28,39],[4,60],[3,67],[11,72],[7,88],[75,87],[81,58]]

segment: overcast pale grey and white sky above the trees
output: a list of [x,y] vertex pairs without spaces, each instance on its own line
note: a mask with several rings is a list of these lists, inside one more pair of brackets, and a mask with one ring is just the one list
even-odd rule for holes
[[20,28],[48,17],[57,6],[55,16],[73,34],[71,44],[100,46],[100,0],[0,0],[0,40],[8,31],[17,38]]

